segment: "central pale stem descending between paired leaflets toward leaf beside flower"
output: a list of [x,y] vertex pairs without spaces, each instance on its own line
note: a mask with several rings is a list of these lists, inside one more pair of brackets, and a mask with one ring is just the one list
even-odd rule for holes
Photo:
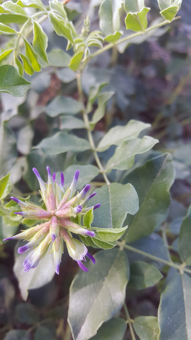
[[[79,100],[83,104],[83,91],[82,91],[82,86],[81,86],[81,73],[76,74],[76,80],[77,80]],[[83,121],[85,123],[85,128],[87,129],[87,133],[88,133],[88,140],[90,142],[90,146],[91,146],[91,149],[93,151],[96,163],[98,165],[98,168],[99,168],[100,172],[103,175],[104,180],[106,181],[106,184],[109,185],[110,181],[109,181],[109,179],[108,179],[108,177],[107,177],[107,175],[105,173],[105,170],[103,169],[103,166],[102,166],[102,164],[100,162],[99,156],[98,156],[97,151],[96,151],[96,146],[95,146],[94,139],[93,139],[93,136],[92,136],[92,131],[91,131],[91,127],[90,127],[90,122],[89,122],[88,114],[86,113],[85,108],[84,108],[82,114],[83,114]]]

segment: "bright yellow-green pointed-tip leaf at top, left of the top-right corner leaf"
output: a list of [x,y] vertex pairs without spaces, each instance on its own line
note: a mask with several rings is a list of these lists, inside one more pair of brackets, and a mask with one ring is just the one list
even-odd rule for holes
[[125,24],[127,30],[132,30],[134,32],[145,31],[147,28],[147,13],[150,8],[143,7],[141,12],[128,13],[125,18]]

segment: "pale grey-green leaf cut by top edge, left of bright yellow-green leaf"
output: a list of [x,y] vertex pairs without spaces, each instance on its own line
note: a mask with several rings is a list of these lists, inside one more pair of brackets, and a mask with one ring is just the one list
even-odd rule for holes
[[122,0],[104,0],[99,7],[99,27],[105,36],[115,35],[120,29],[119,12]]

